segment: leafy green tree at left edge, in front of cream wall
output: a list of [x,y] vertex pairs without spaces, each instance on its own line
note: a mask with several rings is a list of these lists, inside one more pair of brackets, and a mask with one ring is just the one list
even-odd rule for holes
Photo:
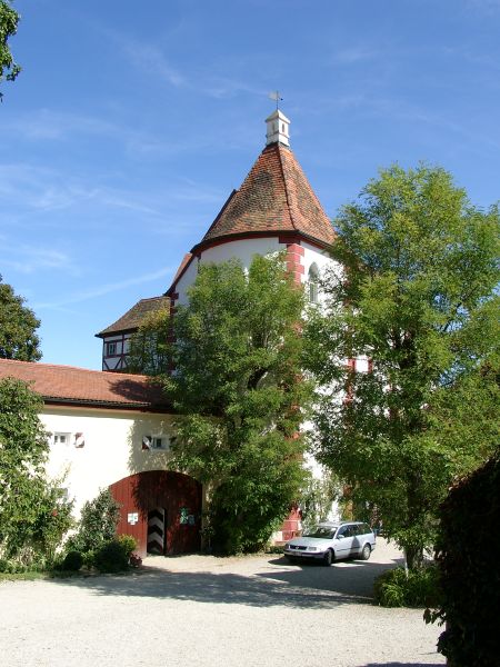
[[48,434],[40,397],[26,382],[0,381],[0,550],[49,559],[71,525],[71,504],[48,479]]

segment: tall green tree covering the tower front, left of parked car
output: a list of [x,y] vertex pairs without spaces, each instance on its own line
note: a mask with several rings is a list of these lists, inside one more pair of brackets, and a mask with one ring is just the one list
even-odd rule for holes
[[173,320],[167,389],[181,418],[173,464],[210,489],[213,544],[264,544],[299,497],[310,396],[300,372],[303,291],[279,258],[202,265]]

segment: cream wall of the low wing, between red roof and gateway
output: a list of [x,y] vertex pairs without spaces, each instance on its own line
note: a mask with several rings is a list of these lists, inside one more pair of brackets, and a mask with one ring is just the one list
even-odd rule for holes
[[[68,434],[68,442],[51,438],[48,472],[52,478],[66,475],[62,484],[74,499],[78,517],[82,505],[102,488],[144,470],[167,468],[169,451],[143,450],[143,436],[171,435],[171,417],[123,410],[48,407],[40,419],[50,434]],[[76,446],[82,434],[83,447]]]

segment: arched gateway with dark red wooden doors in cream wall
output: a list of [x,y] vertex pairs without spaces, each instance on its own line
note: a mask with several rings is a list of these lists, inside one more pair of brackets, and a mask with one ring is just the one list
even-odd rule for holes
[[200,549],[201,485],[180,472],[137,472],[112,484],[120,504],[118,535],[132,535],[138,554],[188,554]]

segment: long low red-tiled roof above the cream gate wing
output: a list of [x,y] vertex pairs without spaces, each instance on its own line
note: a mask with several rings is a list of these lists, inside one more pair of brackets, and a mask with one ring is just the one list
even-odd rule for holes
[[161,388],[140,375],[0,359],[0,379],[8,377],[30,382],[48,404],[169,409]]

